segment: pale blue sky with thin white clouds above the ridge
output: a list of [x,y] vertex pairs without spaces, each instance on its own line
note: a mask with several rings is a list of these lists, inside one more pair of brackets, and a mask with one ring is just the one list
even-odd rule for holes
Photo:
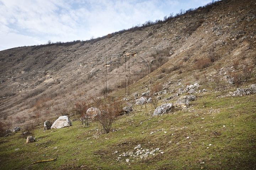
[[89,40],[212,0],[0,0],[0,51]]

